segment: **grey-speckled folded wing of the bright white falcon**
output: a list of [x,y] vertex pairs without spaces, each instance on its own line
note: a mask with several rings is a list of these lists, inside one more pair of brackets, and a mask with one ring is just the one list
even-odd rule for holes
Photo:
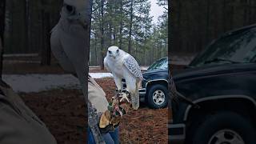
[[138,66],[138,62],[135,58],[131,55],[128,55],[126,58],[123,59],[122,63],[126,68],[130,71],[131,74],[134,74],[135,77],[143,79],[142,71]]

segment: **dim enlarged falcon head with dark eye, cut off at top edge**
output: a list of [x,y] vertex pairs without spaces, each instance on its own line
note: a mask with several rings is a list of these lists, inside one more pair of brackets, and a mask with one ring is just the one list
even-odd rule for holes
[[90,17],[90,9],[86,9],[87,0],[64,0],[61,15],[69,22],[81,24],[86,28],[89,23],[86,21]]

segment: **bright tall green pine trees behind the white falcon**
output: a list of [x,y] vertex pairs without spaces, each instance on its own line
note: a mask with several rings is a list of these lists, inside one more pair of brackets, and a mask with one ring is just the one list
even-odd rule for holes
[[102,65],[107,48],[113,45],[130,50],[140,65],[165,57],[166,22],[166,16],[162,16],[158,25],[153,25],[149,0],[94,0],[90,65]]

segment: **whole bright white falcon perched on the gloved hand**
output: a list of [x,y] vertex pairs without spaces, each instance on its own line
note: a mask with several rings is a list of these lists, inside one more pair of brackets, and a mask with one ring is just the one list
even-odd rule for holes
[[127,94],[130,95],[133,109],[137,110],[139,107],[138,88],[143,79],[138,62],[133,56],[120,50],[118,46],[110,46],[104,58],[104,65],[106,70],[113,74],[118,93],[122,92],[122,78],[126,79],[126,94],[121,97],[126,98]]

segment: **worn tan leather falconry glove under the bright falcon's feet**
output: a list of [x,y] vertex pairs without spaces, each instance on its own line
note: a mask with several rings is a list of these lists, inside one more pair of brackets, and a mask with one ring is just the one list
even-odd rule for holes
[[109,103],[108,110],[102,113],[99,128],[103,133],[113,131],[122,120],[122,116],[130,110],[130,102],[120,102],[118,96],[114,96]]

